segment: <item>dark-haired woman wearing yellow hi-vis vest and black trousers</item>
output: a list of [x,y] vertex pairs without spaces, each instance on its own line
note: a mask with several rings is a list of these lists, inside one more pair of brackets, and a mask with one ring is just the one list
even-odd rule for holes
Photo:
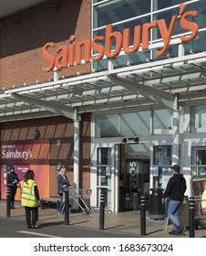
[[33,170],[26,171],[21,184],[21,203],[25,207],[26,225],[28,229],[39,229],[36,225],[38,218],[39,191]]

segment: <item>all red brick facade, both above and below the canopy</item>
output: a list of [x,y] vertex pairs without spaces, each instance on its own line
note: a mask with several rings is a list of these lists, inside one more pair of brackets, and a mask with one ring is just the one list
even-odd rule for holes
[[[1,20],[0,29],[0,90],[53,79],[53,73],[42,72],[46,60],[41,50],[47,42],[67,45],[68,37],[77,40],[90,38],[91,1],[60,0],[59,9],[51,8],[55,1],[46,1]],[[19,23],[14,23],[19,21]],[[13,22],[12,22],[13,21]],[[59,71],[59,77],[86,73],[90,64]],[[38,128],[39,141],[50,141],[50,196],[57,196],[57,161],[66,165],[73,183],[74,123],[66,117],[51,117],[1,123],[1,142],[32,140]],[[57,145],[60,140],[60,145]],[[89,188],[90,114],[83,114],[80,122],[80,187]]]

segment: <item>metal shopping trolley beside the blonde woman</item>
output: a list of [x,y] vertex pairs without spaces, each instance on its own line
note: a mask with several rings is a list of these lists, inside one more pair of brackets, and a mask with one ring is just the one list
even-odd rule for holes
[[72,208],[75,208],[76,206],[78,206],[82,210],[82,213],[89,214],[90,208],[87,206],[86,202],[83,199],[83,197],[87,198],[88,195],[89,193],[87,189],[82,189],[82,188],[69,189],[69,200],[73,202]]

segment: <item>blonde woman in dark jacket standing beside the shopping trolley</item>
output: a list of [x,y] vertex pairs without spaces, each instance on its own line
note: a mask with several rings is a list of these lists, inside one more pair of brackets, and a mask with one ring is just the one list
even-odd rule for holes
[[[57,214],[64,214],[64,208],[65,208],[64,192],[66,191],[66,189],[69,188],[69,186],[70,185],[67,179],[67,170],[65,167],[62,167],[57,176],[58,195],[61,199]],[[59,193],[59,191],[62,191],[62,193]]]

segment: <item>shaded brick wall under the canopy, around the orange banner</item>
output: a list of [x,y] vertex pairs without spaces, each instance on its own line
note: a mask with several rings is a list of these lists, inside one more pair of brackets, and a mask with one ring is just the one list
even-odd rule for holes
[[[41,136],[39,143],[49,139],[49,168],[50,168],[50,196],[57,196],[57,161],[67,167],[67,176],[70,183],[73,183],[73,139],[74,123],[65,117],[54,117],[1,123],[1,142],[16,142],[22,140],[34,140],[33,132],[38,128]],[[90,187],[90,114],[83,114],[80,123],[80,187]],[[57,144],[60,141],[60,145]]]

